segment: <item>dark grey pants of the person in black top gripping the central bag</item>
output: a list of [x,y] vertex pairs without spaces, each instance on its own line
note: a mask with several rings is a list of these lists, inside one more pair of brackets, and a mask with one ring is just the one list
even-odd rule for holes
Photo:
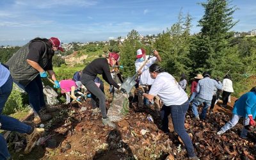
[[95,77],[89,76],[87,74],[81,75],[81,83],[87,88],[87,90],[92,93],[92,106],[97,108],[96,101],[99,99],[99,108],[102,114],[102,118],[107,118],[107,111],[106,111],[106,96],[102,90],[95,84],[94,82]]

